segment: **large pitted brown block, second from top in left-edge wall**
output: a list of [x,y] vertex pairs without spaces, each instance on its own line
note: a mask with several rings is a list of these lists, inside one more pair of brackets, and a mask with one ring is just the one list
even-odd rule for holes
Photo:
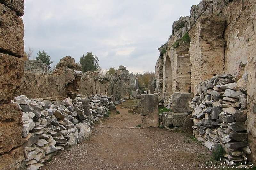
[[[24,25],[22,19],[7,6],[0,4],[0,49],[7,54],[23,57],[24,55]],[[23,70],[23,69],[22,69]]]

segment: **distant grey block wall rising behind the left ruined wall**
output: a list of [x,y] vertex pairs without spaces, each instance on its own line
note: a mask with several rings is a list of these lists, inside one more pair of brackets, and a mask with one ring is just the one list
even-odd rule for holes
[[24,62],[24,72],[49,74],[49,68],[42,60],[26,60]]

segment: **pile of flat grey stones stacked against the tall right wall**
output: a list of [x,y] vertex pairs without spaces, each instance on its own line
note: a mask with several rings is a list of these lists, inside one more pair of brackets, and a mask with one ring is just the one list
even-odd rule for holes
[[245,124],[247,81],[247,73],[240,78],[216,75],[200,82],[199,94],[189,105],[193,135],[210,150],[221,145],[226,151],[224,159],[234,163],[251,154]]

